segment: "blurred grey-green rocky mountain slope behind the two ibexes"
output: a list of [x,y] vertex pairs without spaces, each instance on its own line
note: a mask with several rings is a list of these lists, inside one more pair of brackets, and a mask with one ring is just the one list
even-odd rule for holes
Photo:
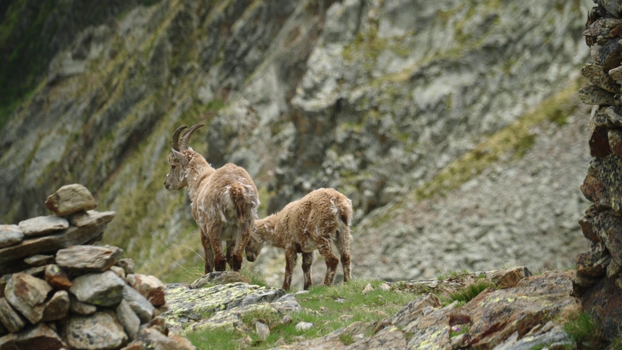
[[[576,143],[554,153],[567,153],[568,176],[544,171],[551,159],[532,151],[549,144],[542,133],[577,135],[585,108],[560,106],[513,131],[524,141],[516,143],[516,163],[501,152],[446,190],[427,186],[547,100],[576,100],[555,96],[577,82],[587,60],[582,31],[590,6],[162,0],[114,12],[114,20],[80,30],[50,60],[0,131],[0,218],[45,214],[47,195],[80,182],[100,207],[119,213],[104,243],[123,247],[138,270],[175,280],[200,263],[193,252],[200,244],[185,191],[162,186],[166,155],[177,126],[205,123],[193,148],[214,166],[231,161],[248,169],[261,191],[261,215],[322,186],[353,200],[355,275],[417,278],[434,268],[490,268],[508,255],[563,265],[575,255],[566,255],[575,245],[564,237],[582,238],[575,225],[582,171],[572,164],[587,161],[586,139],[568,136]],[[495,187],[489,196],[477,190],[501,175],[516,184],[511,169],[524,170],[518,178],[531,187]],[[536,184],[551,191],[541,194]],[[463,204],[443,204],[452,194]],[[523,214],[503,197],[519,201]],[[564,208],[554,220],[523,222],[548,203]],[[432,219],[404,214],[425,210]],[[455,210],[462,214],[439,215]],[[499,219],[509,215],[515,219]],[[447,220],[434,224],[439,216]],[[486,218],[494,230],[481,224]],[[481,232],[489,231],[502,234],[480,249],[488,247],[481,237],[490,240]],[[544,231],[564,249],[536,258],[529,244],[540,244],[532,235]],[[420,245],[422,234],[436,238]],[[515,240],[524,247],[512,250]],[[447,248],[448,241],[456,246]]]

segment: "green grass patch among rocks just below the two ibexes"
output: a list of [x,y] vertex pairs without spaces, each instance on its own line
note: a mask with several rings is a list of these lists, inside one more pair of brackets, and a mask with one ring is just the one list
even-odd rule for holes
[[[244,273],[243,273],[244,275]],[[248,277],[248,275],[247,275]],[[242,321],[251,329],[249,336],[253,341],[248,345],[253,349],[274,348],[274,343],[292,343],[300,339],[313,339],[325,336],[339,328],[346,327],[355,322],[369,324],[364,331],[365,336],[373,335],[373,321],[380,321],[394,315],[407,303],[414,300],[419,294],[408,293],[399,290],[383,291],[380,285],[383,281],[378,280],[351,280],[348,283],[340,283],[333,286],[315,286],[306,294],[296,296],[302,311],[289,313],[291,321],[284,323],[283,316],[274,313],[270,309],[252,310],[241,316]],[[373,290],[363,294],[366,285],[373,286]],[[267,339],[259,339],[255,334],[255,322],[260,321],[271,328]],[[312,323],[309,329],[296,329],[300,322]],[[214,333],[214,331],[210,331]],[[231,334],[223,331],[222,336],[192,334],[188,336],[198,349],[230,349],[240,346],[239,339],[246,334]],[[281,340],[279,340],[281,339]],[[351,334],[342,334],[340,341],[349,345],[354,342]],[[200,342],[210,342],[209,345]],[[217,343],[222,342],[222,343]],[[211,346],[212,348],[205,348]]]

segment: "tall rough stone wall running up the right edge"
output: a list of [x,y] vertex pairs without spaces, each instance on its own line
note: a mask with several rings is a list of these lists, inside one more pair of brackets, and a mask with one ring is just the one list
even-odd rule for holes
[[573,294],[611,340],[622,320],[622,1],[594,2],[583,32],[593,62],[581,71],[592,85],[579,91],[583,103],[593,105],[593,159],[581,186],[593,205],[579,220],[591,248],[575,258]]

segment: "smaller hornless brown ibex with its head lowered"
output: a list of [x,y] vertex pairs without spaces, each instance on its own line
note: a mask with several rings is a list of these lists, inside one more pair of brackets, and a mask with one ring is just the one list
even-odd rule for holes
[[264,242],[285,250],[285,279],[282,288],[289,290],[297,253],[302,253],[304,289],[312,285],[311,264],[315,250],[326,260],[324,285],[332,285],[339,259],[332,243],[341,254],[343,281],[350,280],[350,220],[352,201],[335,189],[321,188],[298,201],[287,204],[280,212],[256,221],[256,229],[246,245],[246,258],[254,261]]

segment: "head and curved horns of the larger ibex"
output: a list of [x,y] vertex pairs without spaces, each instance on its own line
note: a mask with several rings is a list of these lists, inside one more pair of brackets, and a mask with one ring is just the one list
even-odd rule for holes
[[188,140],[190,140],[190,136],[201,126],[203,125],[199,124],[190,127],[190,129],[183,133],[181,140],[179,139],[179,134],[182,133],[183,129],[187,128],[187,126],[180,126],[173,133],[173,140],[170,143],[171,153],[169,154],[170,171],[166,175],[166,180],[164,181],[165,189],[175,191],[188,186],[188,181],[185,176],[188,160],[185,158],[184,153],[188,151]]

